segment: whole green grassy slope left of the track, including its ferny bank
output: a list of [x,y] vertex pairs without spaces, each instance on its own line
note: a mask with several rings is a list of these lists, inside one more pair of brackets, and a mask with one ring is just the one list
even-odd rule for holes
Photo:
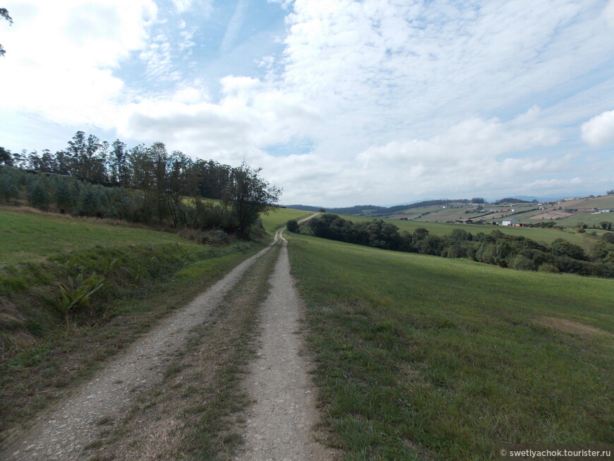
[[265,246],[10,209],[0,238],[0,442]]

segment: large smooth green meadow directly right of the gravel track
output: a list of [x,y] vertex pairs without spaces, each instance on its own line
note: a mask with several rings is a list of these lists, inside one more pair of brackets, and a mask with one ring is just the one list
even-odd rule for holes
[[614,282],[290,234],[347,459],[491,459],[614,440]]

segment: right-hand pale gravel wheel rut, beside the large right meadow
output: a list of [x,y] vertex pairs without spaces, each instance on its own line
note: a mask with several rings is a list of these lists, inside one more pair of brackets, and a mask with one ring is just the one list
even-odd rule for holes
[[246,378],[255,402],[248,410],[246,445],[236,460],[332,460],[335,453],[317,443],[318,421],[310,363],[301,354],[301,299],[290,275],[287,241],[275,265],[271,292],[262,310],[263,334],[258,359]]

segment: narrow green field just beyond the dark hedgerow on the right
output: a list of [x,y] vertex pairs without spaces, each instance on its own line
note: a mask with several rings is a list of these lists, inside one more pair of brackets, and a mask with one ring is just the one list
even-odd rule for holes
[[[363,222],[373,220],[372,217],[341,215],[345,220],[352,222]],[[378,218],[380,219],[380,218]],[[399,227],[400,231],[414,232],[419,227],[428,229],[428,232],[434,235],[443,236],[452,233],[453,229],[464,229],[471,234],[483,232],[490,234],[497,229],[504,234],[510,234],[519,237],[526,237],[538,241],[541,244],[551,244],[555,239],[566,239],[572,244],[582,246],[584,249],[589,249],[594,242],[593,237],[587,234],[576,234],[565,232],[560,229],[548,229],[543,227],[509,227],[509,226],[490,226],[486,224],[449,224],[445,222],[421,222],[421,221],[402,221],[384,219],[385,222],[390,222]]]

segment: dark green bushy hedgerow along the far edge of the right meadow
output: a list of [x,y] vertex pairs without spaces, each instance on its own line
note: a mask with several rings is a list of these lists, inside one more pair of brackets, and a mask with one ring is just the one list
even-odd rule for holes
[[[294,222],[288,224],[291,232],[299,231]],[[313,217],[308,227],[315,237],[380,249],[468,258],[517,270],[614,277],[614,233],[610,232],[596,239],[591,251],[586,253],[565,239],[555,239],[548,246],[526,237],[503,234],[498,229],[475,235],[454,229],[451,234],[440,237],[422,227],[413,233],[399,232],[395,224],[383,220],[351,222],[331,214]]]

